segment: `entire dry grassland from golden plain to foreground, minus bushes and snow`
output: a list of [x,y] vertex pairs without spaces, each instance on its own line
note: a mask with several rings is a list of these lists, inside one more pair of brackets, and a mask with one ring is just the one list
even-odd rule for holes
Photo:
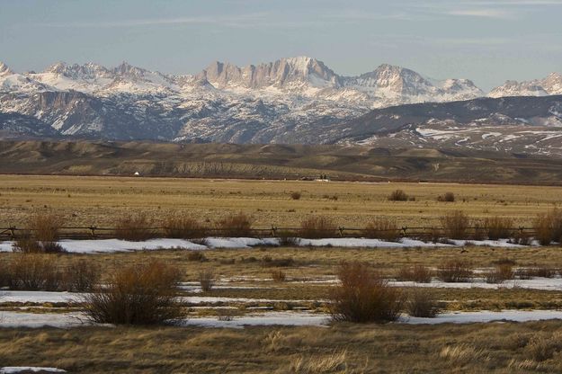
[[[390,201],[403,190],[415,200]],[[299,192],[299,199],[294,199]],[[454,202],[438,201],[446,192]],[[291,194],[293,196],[291,196]],[[462,210],[472,218],[493,216],[531,226],[533,218],[562,202],[562,187],[455,183],[352,183],[202,180],[142,177],[0,175],[0,227],[25,226],[35,213],[54,213],[68,226],[113,227],[120,217],[146,213],[160,222],[171,213],[212,226],[243,211],[254,227],[299,227],[309,216],[334,218],[343,227],[364,227],[370,218],[393,218],[400,226],[438,226]],[[0,271],[22,254],[0,253]],[[513,270],[548,269],[562,274],[558,245],[521,248],[440,247],[367,249],[258,246],[192,251],[166,249],[116,254],[47,254],[60,271],[85,260],[108,274],[153,260],[174,264],[187,298],[189,318],[236,318],[255,313],[306,312],[326,316],[327,298],[343,261],[366,263],[394,280],[421,265],[436,272],[451,260],[481,276],[498,263]],[[201,292],[201,272],[212,271],[215,288]],[[274,280],[275,274],[280,279]],[[480,275],[478,275],[480,274]],[[1,274],[0,274],[1,275]],[[513,277],[515,278],[515,277]],[[516,278],[494,288],[428,289],[442,311],[558,310],[562,291],[526,289]],[[195,285],[195,286],[194,286]],[[409,294],[415,289],[400,286]],[[81,309],[71,302],[3,302],[3,312],[64,314]],[[58,367],[69,372],[174,373],[399,373],[559,372],[559,321],[443,325],[254,326],[242,329],[195,326],[0,328],[2,365]],[[0,365],[1,366],[1,365]]]

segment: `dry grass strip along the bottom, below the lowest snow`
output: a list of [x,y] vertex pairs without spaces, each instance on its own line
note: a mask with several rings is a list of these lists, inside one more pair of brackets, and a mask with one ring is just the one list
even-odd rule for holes
[[96,373],[513,373],[562,370],[562,322],[0,330],[4,365]]

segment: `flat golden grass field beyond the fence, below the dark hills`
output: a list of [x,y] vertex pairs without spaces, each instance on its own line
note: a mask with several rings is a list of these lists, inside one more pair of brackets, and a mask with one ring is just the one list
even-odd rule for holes
[[[397,189],[415,201],[389,201]],[[299,200],[291,199],[294,191]],[[456,200],[437,201],[446,192]],[[117,218],[139,212],[156,221],[181,213],[211,225],[237,211],[263,228],[299,227],[310,215],[334,218],[343,227],[364,227],[375,217],[415,227],[438,225],[443,214],[457,209],[528,226],[561,202],[562,187],[547,186],[0,175],[0,227],[21,226],[35,212],[55,212],[70,226],[112,227]]]

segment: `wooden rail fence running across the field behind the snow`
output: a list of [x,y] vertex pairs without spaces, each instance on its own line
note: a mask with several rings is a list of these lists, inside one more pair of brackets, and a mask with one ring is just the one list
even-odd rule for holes
[[[166,232],[174,230],[173,227],[136,227],[139,230],[149,231],[153,236],[166,237]],[[119,231],[129,230],[129,228],[117,228],[117,227],[58,227],[58,237],[61,239],[103,239],[103,238],[113,238],[118,236]],[[0,240],[13,240],[18,237],[24,236],[27,233],[33,233],[38,231],[36,228],[29,227],[0,227]],[[236,231],[236,227],[232,228],[219,228],[219,227],[209,227],[209,228],[192,228],[190,229],[192,233],[201,232],[201,236],[222,236],[224,233],[232,233]],[[352,237],[361,236],[365,231],[365,228],[359,227],[337,227],[332,231],[335,236],[341,237]],[[390,232],[398,231],[399,236],[410,236],[410,237],[434,237],[442,236],[446,233],[445,227],[397,227],[397,229],[380,229],[380,230],[370,230],[370,232]],[[505,228],[505,231],[509,231],[511,236],[534,236],[535,229],[533,227],[510,227]],[[268,228],[252,228],[250,230],[252,236],[257,237],[277,237],[277,236],[299,236],[299,233],[310,233],[310,232],[326,232],[326,229],[314,229],[307,228],[303,229],[301,227],[276,227],[272,225]],[[197,235],[197,234],[195,234]],[[486,228],[484,227],[467,227],[467,236],[486,236]]]

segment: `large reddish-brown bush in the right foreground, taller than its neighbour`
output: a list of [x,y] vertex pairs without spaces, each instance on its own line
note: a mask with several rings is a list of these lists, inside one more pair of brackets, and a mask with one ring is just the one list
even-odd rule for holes
[[358,323],[397,320],[403,305],[399,289],[371,272],[363,263],[342,263],[338,269],[341,284],[330,294],[335,321]]

